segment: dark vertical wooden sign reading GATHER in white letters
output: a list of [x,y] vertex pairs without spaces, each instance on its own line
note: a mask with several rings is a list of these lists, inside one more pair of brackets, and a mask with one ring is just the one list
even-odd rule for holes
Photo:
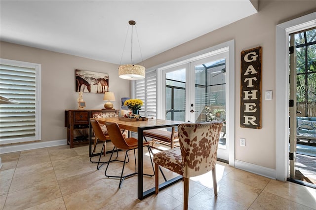
[[241,52],[240,127],[261,129],[262,47]]

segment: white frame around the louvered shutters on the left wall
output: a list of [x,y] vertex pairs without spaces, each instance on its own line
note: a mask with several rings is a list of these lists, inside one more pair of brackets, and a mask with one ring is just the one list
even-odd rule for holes
[[0,59],[0,64],[10,65],[16,67],[24,67],[24,68],[32,68],[36,71],[35,85],[36,85],[36,114],[35,114],[35,137],[31,138],[23,138],[23,139],[14,139],[14,140],[0,140],[0,144],[11,144],[11,143],[19,143],[19,142],[27,142],[27,141],[35,141],[41,140],[41,65],[23,61],[15,61],[9,59]]

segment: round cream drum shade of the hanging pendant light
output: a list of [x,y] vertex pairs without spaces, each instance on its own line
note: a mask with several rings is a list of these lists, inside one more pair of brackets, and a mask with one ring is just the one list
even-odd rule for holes
[[144,79],[145,67],[136,64],[120,65],[118,67],[118,76],[122,79]]

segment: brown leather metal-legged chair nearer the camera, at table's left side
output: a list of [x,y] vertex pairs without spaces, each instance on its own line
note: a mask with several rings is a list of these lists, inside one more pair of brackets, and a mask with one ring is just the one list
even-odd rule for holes
[[[120,176],[118,176],[118,175],[107,175],[107,170],[108,170],[110,161],[111,161],[111,159],[112,159],[112,155],[113,155],[113,152],[114,152],[114,148],[113,148],[113,152],[112,152],[112,154],[111,154],[110,160],[109,160],[109,162],[108,162],[107,168],[105,169],[105,172],[104,172],[104,175],[106,175],[107,177],[120,178],[120,179],[119,179],[119,184],[118,184],[118,188],[120,188],[120,187],[121,187],[121,184],[122,184],[122,182],[124,181],[125,178],[131,177],[131,176],[133,176],[133,175],[137,175],[135,149],[137,149],[137,147],[138,147],[138,140],[135,139],[135,138],[132,138],[132,137],[131,137],[131,138],[124,138],[124,136],[123,136],[122,133],[120,132],[120,129],[119,129],[117,123],[114,123],[114,122],[105,122],[105,125],[106,125],[106,127],[107,127],[107,129],[108,129],[108,133],[109,133],[109,136],[110,136],[110,138],[111,138],[112,143],[113,143],[118,149],[125,151],[125,157],[124,157],[123,167],[122,167],[122,171],[121,171]],[[151,160],[151,163],[152,163],[153,172],[154,172],[153,175],[149,175],[149,176],[154,176],[154,175],[155,175],[155,170],[154,170],[154,164],[153,164],[152,155],[151,155],[152,153],[151,153],[149,144],[150,144],[149,142],[144,141],[144,142],[143,142],[143,147],[146,146],[147,149],[148,149],[149,156],[150,156],[150,160]],[[126,157],[128,158],[127,153],[128,153],[128,151],[130,151],[130,150],[134,150],[135,172],[132,173],[132,174],[129,174],[129,175],[123,175],[125,163],[127,163],[127,162],[126,162]],[[148,175],[148,174],[144,174],[144,175]]]

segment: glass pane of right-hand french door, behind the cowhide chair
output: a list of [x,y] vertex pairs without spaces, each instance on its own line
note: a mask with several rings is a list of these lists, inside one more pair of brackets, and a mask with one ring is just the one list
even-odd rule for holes
[[[226,147],[226,59],[195,66],[195,121],[223,122],[220,147]],[[206,107],[206,108],[205,108]]]

